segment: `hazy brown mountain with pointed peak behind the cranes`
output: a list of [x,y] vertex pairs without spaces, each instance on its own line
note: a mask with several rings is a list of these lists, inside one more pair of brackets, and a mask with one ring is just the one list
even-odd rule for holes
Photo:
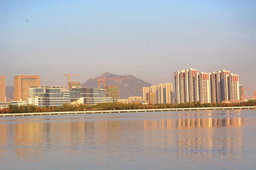
[[[119,79],[117,80],[105,81],[105,86],[118,85],[119,96],[120,98],[125,98],[125,99],[127,99],[129,96],[142,96],[142,87],[151,86],[151,84],[141,79],[137,79],[136,77],[133,77],[131,75],[120,76],[117,74],[110,74],[106,72],[100,76],[100,79],[104,77],[106,78],[119,77]],[[99,77],[96,77],[95,79],[98,79],[98,78]],[[100,81],[100,86],[101,88],[103,88],[104,86],[103,81]],[[99,87],[99,82],[97,80],[93,81],[93,79],[88,79],[87,81],[85,81],[84,84],[82,84],[82,87]]]

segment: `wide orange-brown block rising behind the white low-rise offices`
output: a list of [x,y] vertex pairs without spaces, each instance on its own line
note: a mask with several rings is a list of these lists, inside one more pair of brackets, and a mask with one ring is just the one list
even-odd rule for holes
[[14,77],[14,101],[28,98],[28,88],[31,86],[40,86],[40,76],[18,75]]

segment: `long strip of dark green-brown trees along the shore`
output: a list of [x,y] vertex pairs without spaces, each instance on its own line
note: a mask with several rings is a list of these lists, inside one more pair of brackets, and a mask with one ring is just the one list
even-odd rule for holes
[[201,103],[200,101],[179,103],[179,104],[142,104],[142,103],[98,103],[97,105],[71,105],[63,104],[62,107],[43,107],[34,105],[13,106],[0,110],[1,114],[6,113],[46,113],[46,112],[68,112],[68,111],[111,111],[111,110],[137,110],[137,109],[160,109],[160,108],[214,108],[214,107],[241,107],[256,106],[256,101],[249,100],[240,103]]

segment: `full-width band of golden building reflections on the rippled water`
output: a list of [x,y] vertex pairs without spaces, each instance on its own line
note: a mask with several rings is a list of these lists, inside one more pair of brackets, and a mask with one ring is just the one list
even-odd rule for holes
[[11,144],[14,155],[22,161],[37,161],[55,152],[61,153],[60,158],[88,153],[98,157],[136,157],[137,153],[129,151],[138,147],[143,153],[152,148],[164,154],[175,152],[180,164],[213,159],[234,162],[242,157],[242,125],[245,120],[233,116],[154,118],[148,115],[131,120],[120,117],[2,123],[0,161],[6,155],[6,144]]

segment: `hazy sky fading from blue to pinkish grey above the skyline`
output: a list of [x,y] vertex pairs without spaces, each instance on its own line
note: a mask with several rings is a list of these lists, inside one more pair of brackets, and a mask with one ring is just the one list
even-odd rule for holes
[[0,0],[0,76],[67,86],[64,74],[109,72],[157,85],[181,69],[226,69],[256,87],[255,33],[255,0]]

